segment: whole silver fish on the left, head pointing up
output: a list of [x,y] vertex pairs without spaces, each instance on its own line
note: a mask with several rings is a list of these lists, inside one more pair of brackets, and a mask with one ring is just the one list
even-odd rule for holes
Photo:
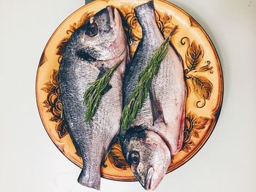
[[[85,121],[83,94],[89,85],[112,66],[118,64],[110,79],[110,90],[102,96],[90,123]],[[78,28],[69,42],[59,66],[59,85],[64,120],[83,169],[78,182],[100,188],[100,167],[118,134],[122,110],[122,80],[129,52],[121,17],[106,7]]]

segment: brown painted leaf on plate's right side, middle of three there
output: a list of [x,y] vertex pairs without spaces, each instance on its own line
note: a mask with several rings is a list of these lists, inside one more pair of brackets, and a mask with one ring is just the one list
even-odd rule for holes
[[204,99],[211,98],[211,92],[213,90],[214,85],[206,78],[201,76],[192,76],[192,84],[194,86],[194,91],[198,93],[198,95]]

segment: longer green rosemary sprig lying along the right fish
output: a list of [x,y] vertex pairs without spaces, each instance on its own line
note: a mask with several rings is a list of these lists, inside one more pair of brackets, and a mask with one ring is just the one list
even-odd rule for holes
[[135,119],[138,110],[140,110],[143,106],[143,102],[148,96],[148,90],[151,86],[153,77],[157,75],[159,66],[167,54],[170,37],[175,30],[176,27],[173,28],[173,31],[170,32],[170,35],[167,37],[167,39],[165,39],[165,42],[163,42],[162,45],[156,50],[153,57],[149,61],[148,66],[146,66],[146,69],[140,73],[138,85],[132,92],[129,101],[124,106],[124,110],[122,112],[121,133],[126,131],[128,124]]

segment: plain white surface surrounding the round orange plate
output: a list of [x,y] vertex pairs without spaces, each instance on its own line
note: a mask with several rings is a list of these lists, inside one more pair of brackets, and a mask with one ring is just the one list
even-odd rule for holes
[[[173,0],[205,28],[225,80],[222,112],[206,145],[156,191],[256,191],[256,1]],[[37,64],[50,35],[83,0],[0,0],[0,191],[94,191],[53,145],[35,99]],[[102,179],[102,191],[144,191]]]

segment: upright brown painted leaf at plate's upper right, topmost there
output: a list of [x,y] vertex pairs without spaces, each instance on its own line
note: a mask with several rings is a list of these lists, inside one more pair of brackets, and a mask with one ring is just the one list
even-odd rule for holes
[[194,70],[200,64],[203,59],[203,47],[193,41],[189,47],[187,47],[186,64],[190,70]]

